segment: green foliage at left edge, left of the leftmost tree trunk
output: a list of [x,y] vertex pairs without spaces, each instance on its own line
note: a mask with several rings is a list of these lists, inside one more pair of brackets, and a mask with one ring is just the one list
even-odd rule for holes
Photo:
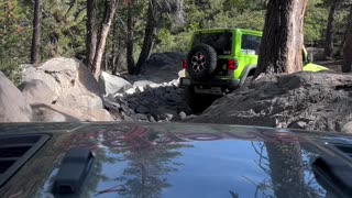
[[0,70],[14,84],[21,80],[20,63],[29,61],[30,7],[26,1],[0,1]]

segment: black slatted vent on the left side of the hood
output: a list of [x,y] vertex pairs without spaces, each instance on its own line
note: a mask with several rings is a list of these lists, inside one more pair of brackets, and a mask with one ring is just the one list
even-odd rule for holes
[[50,139],[46,134],[0,138],[0,187]]

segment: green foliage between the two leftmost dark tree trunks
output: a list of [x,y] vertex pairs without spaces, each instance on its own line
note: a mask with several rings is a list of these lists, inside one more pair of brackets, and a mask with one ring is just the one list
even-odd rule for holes
[[85,54],[86,0],[44,1],[43,58]]

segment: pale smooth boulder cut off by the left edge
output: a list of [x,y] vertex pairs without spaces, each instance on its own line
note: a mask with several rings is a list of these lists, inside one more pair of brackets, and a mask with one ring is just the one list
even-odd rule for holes
[[21,91],[0,72],[0,122],[30,122],[32,109]]

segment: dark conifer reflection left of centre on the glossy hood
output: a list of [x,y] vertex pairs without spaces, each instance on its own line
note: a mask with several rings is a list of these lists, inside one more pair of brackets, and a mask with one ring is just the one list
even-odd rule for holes
[[[148,141],[153,142],[157,135],[150,134]],[[155,144],[150,146],[132,147],[124,153],[129,165],[120,182],[123,190],[119,191],[124,197],[162,197],[162,191],[170,187],[167,183],[167,174],[177,172],[182,164],[173,162],[182,153],[177,150],[191,147],[188,144]]]

